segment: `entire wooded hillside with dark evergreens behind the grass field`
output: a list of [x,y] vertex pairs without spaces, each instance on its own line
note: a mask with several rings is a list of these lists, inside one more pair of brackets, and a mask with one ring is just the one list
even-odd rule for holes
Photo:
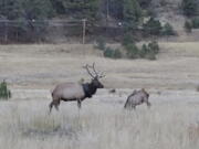
[[[197,41],[199,33],[196,29],[191,33],[184,29],[186,21],[198,17],[199,2],[196,2],[186,7],[181,7],[182,0],[1,2],[0,42],[80,43],[83,34],[82,19],[86,19],[86,43],[95,42],[98,36],[109,43],[121,42],[127,33],[138,41],[154,36],[164,41]],[[186,14],[187,11],[190,14]],[[169,30],[165,24],[169,25]]]

